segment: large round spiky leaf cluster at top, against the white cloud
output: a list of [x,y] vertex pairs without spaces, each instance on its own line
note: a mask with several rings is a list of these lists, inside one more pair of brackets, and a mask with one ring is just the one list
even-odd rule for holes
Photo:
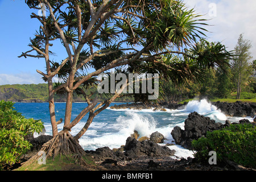
[[144,24],[151,35],[154,35],[156,50],[167,47],[191,46],[197,38],[205,36],[201,25],[206,19],[198,19],[195,10],[188,10],[182,1],[160,1],[159,11],[148,11],[146,14],[154,19]]

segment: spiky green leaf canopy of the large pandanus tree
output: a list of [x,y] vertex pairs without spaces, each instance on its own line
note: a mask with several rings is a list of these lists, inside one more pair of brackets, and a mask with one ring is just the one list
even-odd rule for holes
[[[90,31],[84,42],[85,49],[81,49],[76,62],[78,65],[75,72],[76,80],[86,77],[88,75],[86,71],[92,69],[97,71],[108,67],[114,60],[119,59],[127,61],[127,64],[120,63],[127,65],[123,69],[127,73],[159,73],[161,78],[171,80],[175,85],[184,85],[190,80],[203,79],[202,72],[205,68],[221,67],[227,63],[226,59],[230,56],[230,52],[226,51],[225,46],[220,43],[209,43],[202,39],[202,36],[205,36],[204,32],[207,32],[203,28],[207,26],[204,23],[206,19],[200,19],[201,15],[195,14],[194,9],[189,10],[182,1],[121,2],[118,13],[112,13],[117,9],[118,3],[113,3],[113,5],[112,1],[107,3],[106,14],[109,13],[109,18],[104,20],[100,18]],[[33,9],[38,8],[39,5],[39,1],[35,0],[26,1],[26,3]],[[55,11],[55,19],[63,30],[67,43],[74,49],[76,48],[74,44],[81,44],[79,33],[85,34],[89,23],[96,16],[92,11],[99,12],[103,2],[93,1],[92,6],[88,2],[79,1],[51,1],[49,3]],[[79,6],[81,10],[81,24],[76,6]],[[63,43],[60,32],[54,26],[54,20],[50,15],[45,18],[34,15],[31,18],[38,18],[44,28],[40,27],[36,38],[31,39],[29,46],[45,52],[42,45],[46,43],[46,39],[49,41],[60,39]],[[82,32],[79,32],[79,28]],[[187,47],[190,49],[188,50]],[[92,56],[95,53],[94,49],[98,53]],[[128,53],[128,50],[131,52]],[[54,55],[50,51],[49,54]],[[38,55],[40,56],[40,52]],[[92,59],[89,60],[90,56]],[[84,61],[86,59],[88,61]],[[61,67],[55,76],[62,80],[59,86],[63,86],[73,69],[71,61],[66,60],[63,66],[58,61],[49,62],[51,72]],[[43,78],[47,81],[46,77]],[[93,79],[96,80],[96,77]],[[75,81],[74,85],[76,83]],[[57,93],[64,92],[65,89],[61,89]]]

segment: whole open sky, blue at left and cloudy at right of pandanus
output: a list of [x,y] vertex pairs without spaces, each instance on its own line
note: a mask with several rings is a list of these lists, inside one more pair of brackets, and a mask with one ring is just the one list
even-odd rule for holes
[[[221,42],[231,51],[243,33],[245,39],[251,40],[251,55],[256,59],[255,0],[184,0],[184,3],[209,19],[210,26],[205,28],[210,42]],[[18,58],[31,49],[30,38],[34,38],[40,26],[38,20],[30,18],[31,13],[38,14],[38,10],[29,9],[24,0],[0,0],[0,85],[43,83],[36,69],[46,70],[44,59]],[[53,52],[60,52],[57,56],[63,59],[63,47]]]

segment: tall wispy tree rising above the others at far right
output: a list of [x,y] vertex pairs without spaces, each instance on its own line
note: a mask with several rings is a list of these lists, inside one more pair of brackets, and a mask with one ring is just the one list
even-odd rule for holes
[[234,56],[232,62],[233,79],[236,82],[237,99],[240,99],[242,86],[251,75],[249,61],[251,57],[251,42],[250,40],[243,39],[243,34],[238,38],[237,46],[234,48],[237,56]]

